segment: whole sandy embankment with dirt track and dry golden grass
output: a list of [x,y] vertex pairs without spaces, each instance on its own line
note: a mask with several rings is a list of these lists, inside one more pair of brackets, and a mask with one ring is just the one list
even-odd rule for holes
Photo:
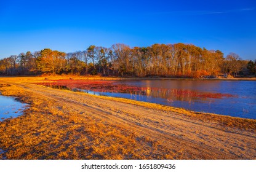
[[56,90],[28,80],[0,79],[3,95],[31,104],[25,115],[0,122],[0,158],[256,158],[256,120]]

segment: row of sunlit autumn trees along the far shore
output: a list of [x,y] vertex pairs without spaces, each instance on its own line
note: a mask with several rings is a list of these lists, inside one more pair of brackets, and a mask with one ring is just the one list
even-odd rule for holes
[[90,45],[73,53],[44,49],[0,60],[2,75],[102,74],[102,76],[202,77],[220,74],[255,74],[256,61],[241,60],[235,53],[224,57],[220,50],[191,44],[154,44],[110,48]]

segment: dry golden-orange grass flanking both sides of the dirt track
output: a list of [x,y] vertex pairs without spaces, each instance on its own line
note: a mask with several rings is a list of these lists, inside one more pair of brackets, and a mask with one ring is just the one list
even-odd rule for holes
[[[2,95],[15,96],[18,100],[30,104],[30,108],[25,110],[24,115],[0,122],[0,149],[4,151],[4,153],[0,154],[0,159],[209,158],[207,155],[190,154],[190,150],[186,148],[188,145],[173,146],[171,144],[164,144],[163,140],[158,140],[150,135],[144,135],[138,131],[130,130],[126,125],[122,125],[122,123],[111,122],[111,120],[104,120],[103,118],[97,117],[97,115],[94,115],[94,112],[87,111],[86,108],[84,108],[85,110],[74,108],[72,104],[63,103],[49,96],[38,95],[36,92],[30,90],[28,84],[23,84],[23,87],[19,86],[22,83],[41,82],[42,80],[44,80],[44,77],[6,77],[0,79],[0,92]],[[41,85],[33,87],[45,88]],[[227,130],[227,135],[229,135],[229,131],[234,131],[230,128],[239,129],[239,131],[240,129],[243,131],[247,130],[248,132],[246,131],[246,133],[248,135],[255,133],[256,130],[256,120],[195,113],[185,111],[184,109],[153,103],[142,103],[123,98],[94,96],[86,93],[73,93],[68,90],[49,89],[49,92],[53,95],[57,94],[57,92],[67,93],[70,96],[83,95],[95,98],[98,101],[109,100],[113,104],[114,102],[133,104],[145,109],[159,111],[159,114],[161,112],[172,113],[182,120],[202,123],[202,125],[203,123],[211,123],[217,127],[220,126],[221,130]],[[134,117],[139,118],[140,114],[126,115],[134,115]],[[150,123],[149,126],[151,125],[153,126]],[[172,127],[171,123],[169,125],[169,127]],[[198,128],[194,133],[196,136],[201,131]],[[175,134],[172,133],[172,135]],[[252,140],[252,142],[255,141],[253,137],[254,135],[249,137],[249,140]],[[182,139],[179,141],[182,141]],[[228,140],[227,142],[230,141]],[[210,143],[210,145],[212,144],[215,143]],[[251,143],[246,143],[246,145],[250,147],[248,150],[256,150],[255,146]],[[227,146],[231,147],[230,150],[233,151],[232,146],[228,144]],[[200,146],[196,147],[198,150],[201,150],[201,148]],[[206,152],[206,154],[208,153]],[[222,152],[215,152],[215,154],[222,154]],[[254,154],[254,152],[251,154]],[[249,158],[255,158],[255,154],[250,156]],[[222,158],[230,157],[224,156]]]

